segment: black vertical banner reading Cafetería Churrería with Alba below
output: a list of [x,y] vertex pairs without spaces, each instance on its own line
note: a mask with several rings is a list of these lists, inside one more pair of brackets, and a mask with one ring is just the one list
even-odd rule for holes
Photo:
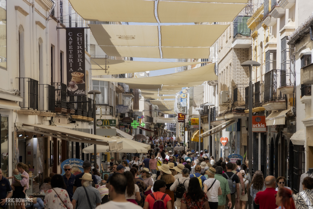
[[66,28],[66,74],[67,94],[86,95],[84,28]]

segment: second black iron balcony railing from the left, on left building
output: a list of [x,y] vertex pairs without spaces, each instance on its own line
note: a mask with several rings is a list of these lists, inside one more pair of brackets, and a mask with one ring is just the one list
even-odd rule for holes
[[39,110],[54,112],[55,89],[49,84],[39,84]]

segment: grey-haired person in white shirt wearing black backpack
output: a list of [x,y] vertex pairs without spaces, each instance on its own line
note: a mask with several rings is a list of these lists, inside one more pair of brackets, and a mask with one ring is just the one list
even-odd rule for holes
[[[181,164],[179,164],[179,165],[181,165]],[[187,192],[188,185],[189,185],[189,179],[190,179],[189,178],[190,171],[189,171],[189,169],[184,168],[181,171],[181,174],[182,174],[182,177],[176,179],[174,181],[173,185],[171,186],[171,188],[170,188],[171,191],[174,191],[178,185],[183,184],[185,187],[185,192]],[[183,188],[181,188],[181,189],[183,189]],[[177,209],[180,209],[180,205],[181,205],[181,200],[182,200],[182,195],[183,195],[183,193],[181,192],[181,189],[179,191],[178,190],[176,191],[176,207],[177,207]]]

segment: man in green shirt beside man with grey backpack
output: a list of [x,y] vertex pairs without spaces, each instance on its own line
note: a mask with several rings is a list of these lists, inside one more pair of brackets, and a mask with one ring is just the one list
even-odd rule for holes
[[215,170],[216,170],[216,173],[215,173],[214,178],[216,180],[219,180],[220,187],[222,189],[222,195],[218,196],[218,209],[224,209],[226,196],[228,198],[228,208],[231,208],[232,207],[232,200],[230,197],[230,189],[228,186],[228,181],[222,175],[223,174],[223,168],[222,168],[222,166],[217,166],[215,168]]

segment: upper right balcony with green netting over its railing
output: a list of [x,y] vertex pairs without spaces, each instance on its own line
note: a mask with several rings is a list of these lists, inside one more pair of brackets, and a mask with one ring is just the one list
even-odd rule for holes
[[238,16],[233,21],[233,42],[232,47],[249,48],[252,44],[251,30],[248,28],[247,21],[250,17]]

